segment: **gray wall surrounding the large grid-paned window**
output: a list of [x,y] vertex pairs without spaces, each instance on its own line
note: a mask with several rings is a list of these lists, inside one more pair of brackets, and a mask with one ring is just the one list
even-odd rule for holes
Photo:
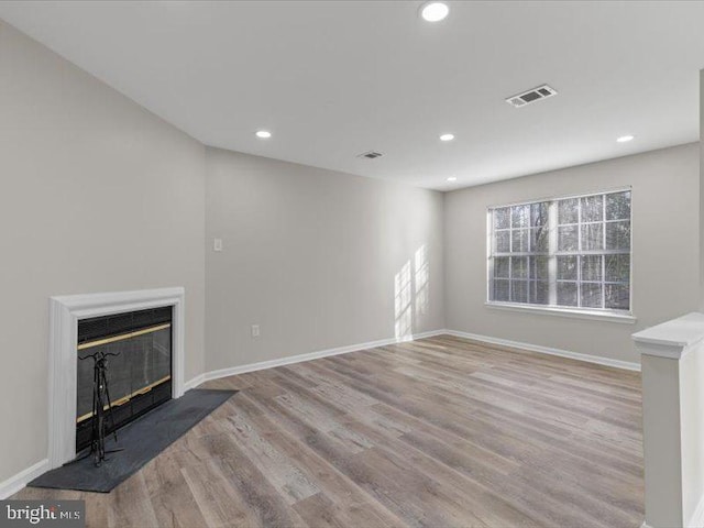
[[[630,334],[697,309],[698,144],[446,195],[446,322],[452,330],[639,362]],[[636,324],[507,312],[486,300],[486,208],[632,186]]]

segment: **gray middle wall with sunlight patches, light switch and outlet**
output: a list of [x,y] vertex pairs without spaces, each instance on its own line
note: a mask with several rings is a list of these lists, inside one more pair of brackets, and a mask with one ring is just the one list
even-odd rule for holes
[[207,371],[443,328],[440,193],[207,157]]

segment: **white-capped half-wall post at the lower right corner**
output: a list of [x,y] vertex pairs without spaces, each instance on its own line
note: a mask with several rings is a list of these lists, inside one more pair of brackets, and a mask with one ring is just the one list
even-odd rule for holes
[[704,314],[632,338],[642,372],[644,527],[704,527]]

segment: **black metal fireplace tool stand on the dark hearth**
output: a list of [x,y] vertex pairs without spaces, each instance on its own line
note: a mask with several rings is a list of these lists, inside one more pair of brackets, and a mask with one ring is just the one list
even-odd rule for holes
[[100,468],[106,459],[106,454],[123,451],[123,448],[106,450],[106,437],[108,436],[108,420],[112,428],[114,441],[118,441],[118,431],[114,428],[114,417],[112,416],[112,402],[110,399],[110,388],[108,385],[108,358],[120,355],[119,353],[98,351],[79,360],[91,359],[94,361],[92,382],[92,424],[90,451],[75,460],[84,460],[90,455],[94,458],[94,465]]

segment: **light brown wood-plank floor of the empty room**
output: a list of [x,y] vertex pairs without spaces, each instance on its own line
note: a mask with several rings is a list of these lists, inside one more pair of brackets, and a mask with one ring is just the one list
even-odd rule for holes
[[640,375],[451,337],[208,383],[241,392],[92,527],[638,527]]

